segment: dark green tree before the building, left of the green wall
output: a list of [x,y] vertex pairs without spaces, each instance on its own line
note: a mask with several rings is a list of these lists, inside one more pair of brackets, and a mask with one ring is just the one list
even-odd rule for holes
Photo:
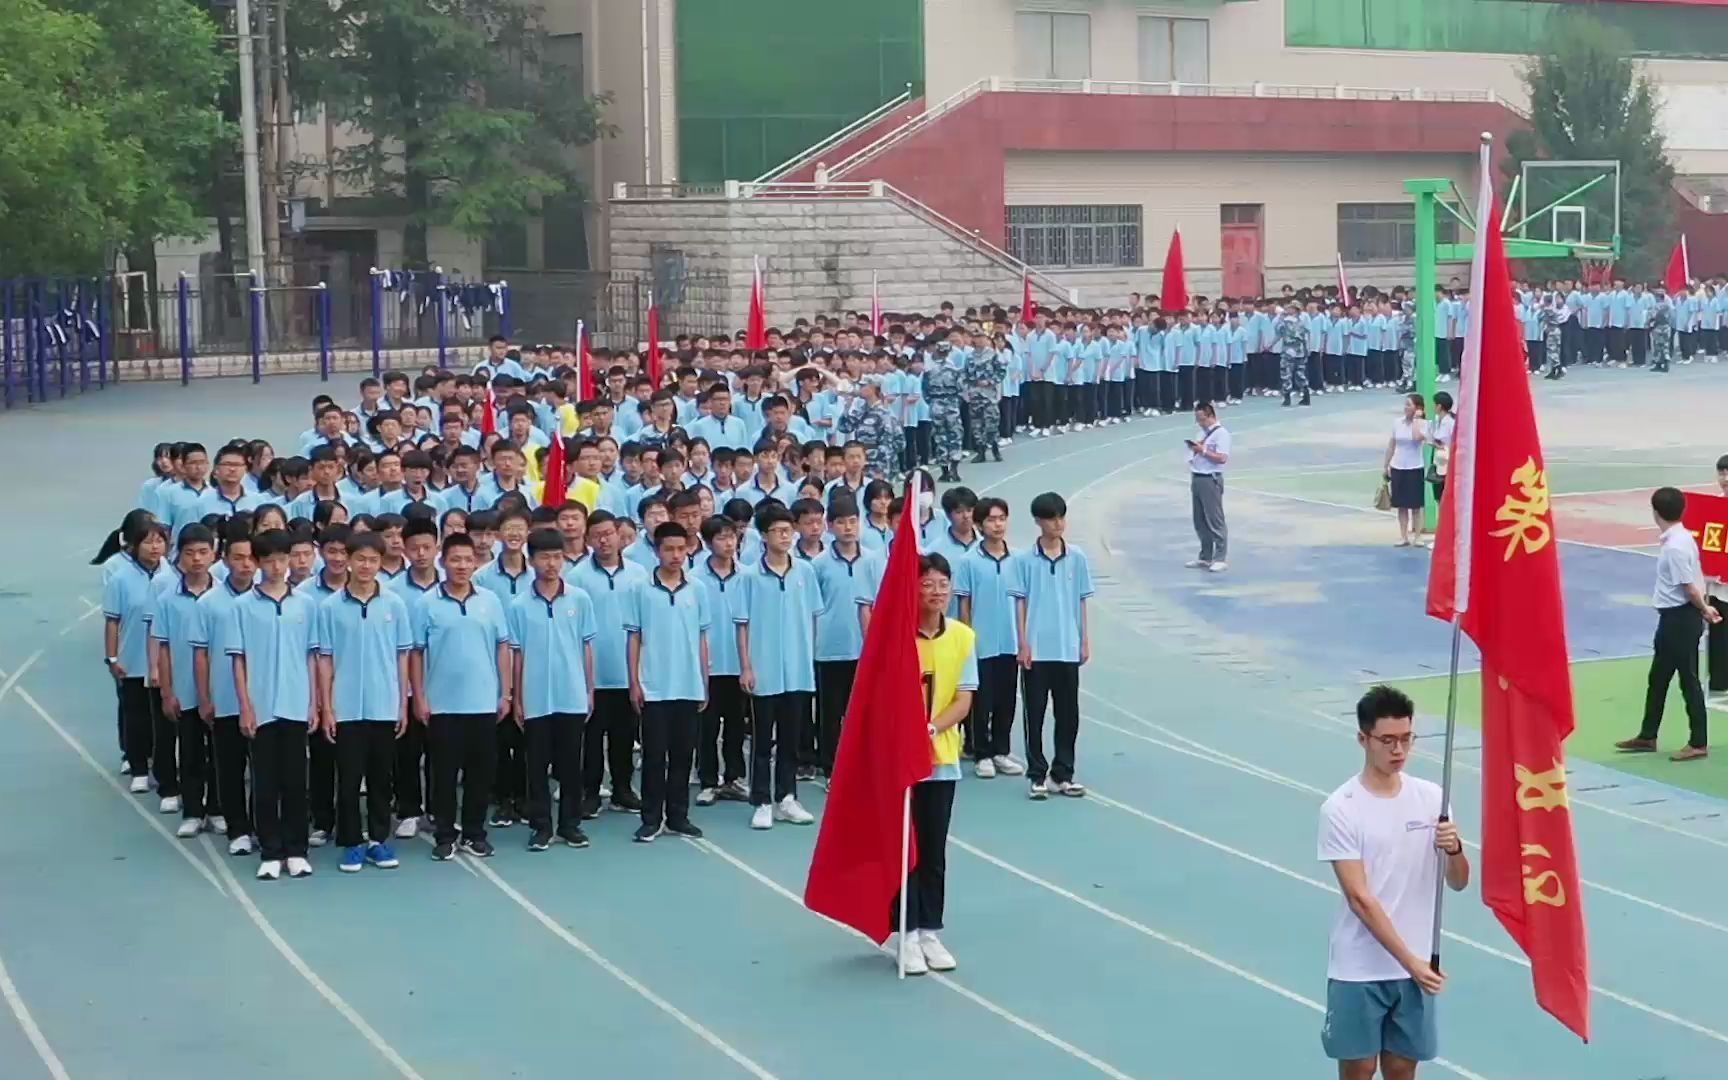
[[366,135],[332,166],[401,199],[411,266],[429,225],[484,237],[579,192],[574,150],[612,131],[607,98],[544,55],[534,0],[323,0],[289,36],[295,97]]

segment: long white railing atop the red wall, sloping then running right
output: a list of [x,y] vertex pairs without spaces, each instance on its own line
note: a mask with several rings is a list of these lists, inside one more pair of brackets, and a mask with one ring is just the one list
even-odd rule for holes
[[907,123],[885,131],[828,169],[835,180],[866,161],[900,145],[980,93],[1130,93],[1147,97],[1263,97],[1355,102],[1498,102],[1510,107],[1493,90],[1427,90],[1422,86],[1310,86],[1294,83],[1127,83],[1111,79],[1004,79],[985,78],[957,90],[942,104],[924,109]]

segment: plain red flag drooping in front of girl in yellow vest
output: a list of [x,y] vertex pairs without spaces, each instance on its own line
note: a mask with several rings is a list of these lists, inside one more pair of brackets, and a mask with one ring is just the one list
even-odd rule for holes
[[[904,883],[905,795],[930,778],[930,707],[918,660],[918,503],[912,496],[905,503],[864,634],[835,781],[804,885],[805,907],[878,945],[888,940],[890,909]],[[912,866],[916,838],[905,869]]]

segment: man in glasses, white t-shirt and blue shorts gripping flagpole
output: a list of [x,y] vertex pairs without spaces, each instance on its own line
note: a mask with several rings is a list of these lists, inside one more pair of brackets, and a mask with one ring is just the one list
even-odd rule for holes
[[1471,883],[1458,826],[1441,819],[1439,786],[1405,776],[1415,707],[1391,686],[1356,702],[1362,772],[1320,807],[1320,861],[1343,902],[1332,916],[1320,1044],[1339,1080],[1410,1080],[1436,1052],[1434,995],[1445,976],[1429,962],[1434,874]]

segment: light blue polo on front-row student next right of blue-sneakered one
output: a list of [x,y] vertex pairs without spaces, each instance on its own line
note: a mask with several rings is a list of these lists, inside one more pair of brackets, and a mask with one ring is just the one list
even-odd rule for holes
[[427,707],[435,714],[498,710],[498,646],[510,641],[505,608],[479,586],[467,600],[449,584],[420,598],[413,612],[415,648],[425,657]]

